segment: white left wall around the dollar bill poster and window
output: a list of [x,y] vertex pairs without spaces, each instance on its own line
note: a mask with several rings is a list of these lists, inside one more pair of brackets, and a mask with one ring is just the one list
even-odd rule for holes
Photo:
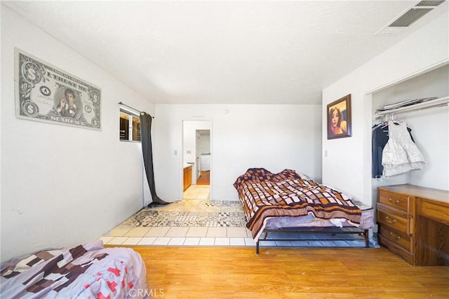
[[[14,48],[102,90],[102,130],[15,116]],[[119,105],[154,112],[133,90],[1,6],[1,260],[98,239],[142,207],[142,150],[119,141]]]

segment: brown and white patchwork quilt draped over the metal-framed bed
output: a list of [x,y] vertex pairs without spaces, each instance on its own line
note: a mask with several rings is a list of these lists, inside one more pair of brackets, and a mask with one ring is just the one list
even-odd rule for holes
[[234,187],[255,241],[267,219],[273,217],[313,214],[322,219],[344,218],[354,226],[361,221],[361,210],[347,195],[293,169],[273,174],[264,168],[250,168],[236,179]]

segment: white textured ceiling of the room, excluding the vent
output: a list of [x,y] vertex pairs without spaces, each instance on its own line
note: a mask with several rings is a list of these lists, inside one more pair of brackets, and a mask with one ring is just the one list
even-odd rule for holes
[[448,10],[375,36],[417,2],[2,1],[168,104],[321,104],[327,85]]

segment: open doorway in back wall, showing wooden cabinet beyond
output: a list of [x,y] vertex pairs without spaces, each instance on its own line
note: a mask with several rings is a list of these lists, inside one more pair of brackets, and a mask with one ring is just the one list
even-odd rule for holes
[[182,199],[210,200],[210,120],[183,120]]

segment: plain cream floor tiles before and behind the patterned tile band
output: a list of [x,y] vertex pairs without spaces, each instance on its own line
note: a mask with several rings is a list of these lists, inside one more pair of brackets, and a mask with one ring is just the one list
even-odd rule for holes
[[[192,185],[185,191],[184,199],[163,207],[159,211],[189,212],[242,212],[240,204],[214,207],[199,204],[209,198],[209,186]],[[120,225],[100,237],[104,244],[131,246],[255,246],[246,227],[154,226],[136,227]]]

